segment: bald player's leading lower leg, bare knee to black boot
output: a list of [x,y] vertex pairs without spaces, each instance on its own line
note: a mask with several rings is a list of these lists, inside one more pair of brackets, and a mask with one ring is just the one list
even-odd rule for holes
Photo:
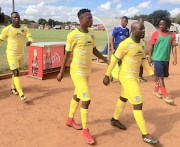
[[155,138],[153,138],[146,128],[146,122],[144,120],[143,112],[142,112],[142,103],[140,104],[134,104],[134,117],[136,119],[136,122],[141,130],[142,138],[145,142],[150,144],[157,144],[159,141]]

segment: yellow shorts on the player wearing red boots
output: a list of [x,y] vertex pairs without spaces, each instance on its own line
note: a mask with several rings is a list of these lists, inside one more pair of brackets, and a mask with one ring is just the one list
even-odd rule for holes
[[88,88],[90,76],[79,76],[71,74],[71,78],[75,85],[74,95],[77,95],[77,98],[79,98],[81,101],[90,100]]

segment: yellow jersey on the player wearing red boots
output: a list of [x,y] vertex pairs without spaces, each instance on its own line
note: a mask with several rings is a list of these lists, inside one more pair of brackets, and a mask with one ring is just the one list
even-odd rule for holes
[[70,65],[71,74],[90,75],[94,47],[96,47],[94,30],[88,29],[87,32],[82,32],[76,28],[68,34],[65,50],[66,52],[73,52],[73,59]]

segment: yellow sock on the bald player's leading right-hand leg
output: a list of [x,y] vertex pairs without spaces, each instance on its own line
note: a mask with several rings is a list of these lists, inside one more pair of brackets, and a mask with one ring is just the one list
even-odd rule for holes
[[133,110],[134,117],[136,119],[136,122],[141,130],[141,133],[143,135],[148,134],[147,128],[146,128],[146,122],[143,117],[142,110]]

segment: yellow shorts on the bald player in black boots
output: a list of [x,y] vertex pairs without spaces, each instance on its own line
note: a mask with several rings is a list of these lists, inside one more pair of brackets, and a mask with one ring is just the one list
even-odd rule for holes
[[121,97],[126,98],[133,105],[143,102],[142,94],[139,89],[139,79],[121,79]]

